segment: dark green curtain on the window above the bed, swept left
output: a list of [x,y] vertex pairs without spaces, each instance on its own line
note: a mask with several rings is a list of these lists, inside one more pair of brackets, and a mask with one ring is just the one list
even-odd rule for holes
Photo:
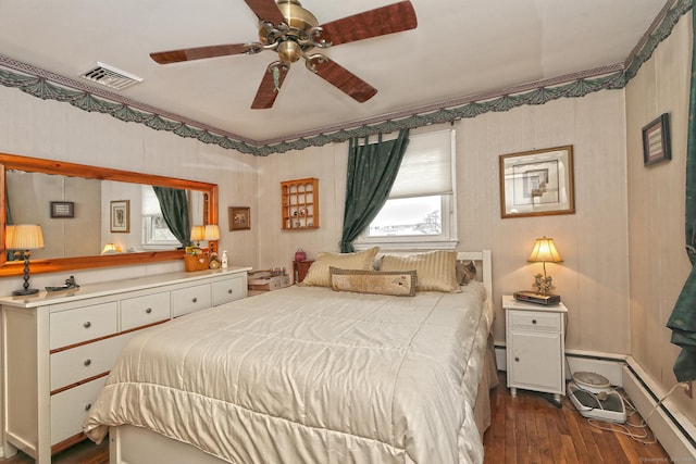
[[346,210],[340,251],[353,251],[352,241],[375,218],[389,198],[389,191],[409,145],[409,129],[399,130],[396,140],[360,146],[357,138],[350,139],[348,148],[348,183],[346,186]]

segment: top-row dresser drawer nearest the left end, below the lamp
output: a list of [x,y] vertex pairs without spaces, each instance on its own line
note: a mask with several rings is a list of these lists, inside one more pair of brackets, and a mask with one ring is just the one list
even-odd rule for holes
[[105,337],[117,330],[115,301],[54,312],[50,315],[50,349]]

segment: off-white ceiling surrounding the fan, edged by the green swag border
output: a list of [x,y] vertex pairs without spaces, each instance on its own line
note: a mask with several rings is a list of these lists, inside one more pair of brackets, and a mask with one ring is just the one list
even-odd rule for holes
[[[107,63],[144,78],[116,91],[124,98],[263,142],[622,64],[667,0],[411,1],[415,29],[322,51],[378,90],[365,103],[298,62],[273,108],[251,110],[272,51],[167,65],[149,58],[258,40],[243,0],[0,0],[0,55],[72,79]],[[323,24],[394,2],[302,7]]]

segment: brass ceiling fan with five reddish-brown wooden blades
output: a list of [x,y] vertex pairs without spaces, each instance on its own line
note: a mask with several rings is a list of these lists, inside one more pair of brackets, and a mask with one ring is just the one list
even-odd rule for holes
[[160,64],[170,64],[273,50],[277,52],[278,60],[265,70],[252,109],[273,106],[290,64],[300,58],[304,59],[304,65],[312,73],[362,103],[374,97],[377,89],[327,57],[311,51],[413,29],[418,24],[413,5],[408,0],[322,25],[298,0],[245,2],[259,18],[260,41],[161,51],[150,53],[150,57]]

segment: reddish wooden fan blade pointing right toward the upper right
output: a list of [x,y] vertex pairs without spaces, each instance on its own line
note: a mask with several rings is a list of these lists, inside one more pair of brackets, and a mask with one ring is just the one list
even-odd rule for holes
[[323,24],[315,40],[337,46],[414,29],[415,26],[413,5],[410,1],[401,1]]

